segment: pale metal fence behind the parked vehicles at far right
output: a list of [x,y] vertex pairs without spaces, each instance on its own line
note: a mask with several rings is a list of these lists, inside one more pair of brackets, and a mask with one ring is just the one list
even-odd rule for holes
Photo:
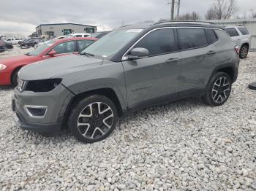
[[251,50],[256,51],[256,19],[207,20],[223,26],[245,26],[252,34]]

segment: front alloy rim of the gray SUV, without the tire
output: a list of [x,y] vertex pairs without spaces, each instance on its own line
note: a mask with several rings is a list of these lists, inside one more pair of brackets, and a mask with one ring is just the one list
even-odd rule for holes
[[78,116],[78,130],[86,139],[104,136],[112,125],[113,110],[102,102],[87,105]]

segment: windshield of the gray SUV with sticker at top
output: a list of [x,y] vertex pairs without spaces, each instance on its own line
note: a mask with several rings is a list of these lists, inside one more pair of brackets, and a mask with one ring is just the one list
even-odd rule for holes
[[140,34],[141,31],[143,31],[143,29],[121,29],[112,31],[110,34],[102,37],[102,39],[99,39],[89,47],[86,47],[81,54],[88,53],[89,55],[110,57],[121,50],[124,45]]

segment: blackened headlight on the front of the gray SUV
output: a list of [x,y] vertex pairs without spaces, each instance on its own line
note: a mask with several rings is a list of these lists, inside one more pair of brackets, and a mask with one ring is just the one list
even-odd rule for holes
[[50,92],[61,83],[62,79],[41,79],[28,81],[26,85],[27,91],[32,92]]

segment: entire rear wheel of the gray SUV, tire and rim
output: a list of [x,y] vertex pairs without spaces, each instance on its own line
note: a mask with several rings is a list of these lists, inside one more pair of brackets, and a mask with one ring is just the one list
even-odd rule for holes
[[225,72],[218,72],[211,78],[203,100],[210,106],[222,106],[230,96],[232,81]]

